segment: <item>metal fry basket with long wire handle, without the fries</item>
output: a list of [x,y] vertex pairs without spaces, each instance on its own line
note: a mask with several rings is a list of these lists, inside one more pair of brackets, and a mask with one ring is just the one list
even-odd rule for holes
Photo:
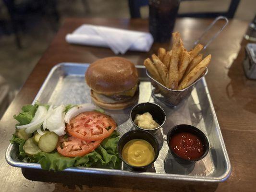
[[[206,28],[206,30],[202,33],[202,35],[195,41],[195,45],[199,43],[199,41],[206,36],[207,32],[212,28],[212,26],[218,21],[218,20],[225,20],[225,23],[220,28],[219,31],[217,31],[214,36],[212,36],[203,49],[206,49],[208,45],[219,35],[219,33],[226,27],[226,25],[229,23],[228,19],[224,16],[216,17],[215,20],[209,24],[209,26]],[[148,71],[146,70],[146,75],[149,77],[151,84],[153,85],[154,89],[152,90],[152,97],[156,100],[161,101],[165,105],[169,107],[177,106],[179,103],[181,103],[184,99],[186,99],[188,96],[190,96],[191,91],[193,90],[193,87],[195,84],[200,81],[206,74],[208,70],[206,68],[205,72],[202,73],[201,77],[199,77],[193,84],[186,87],[183,90],[172,90],[164,85],[158,83],[155,79],[153,79]]]

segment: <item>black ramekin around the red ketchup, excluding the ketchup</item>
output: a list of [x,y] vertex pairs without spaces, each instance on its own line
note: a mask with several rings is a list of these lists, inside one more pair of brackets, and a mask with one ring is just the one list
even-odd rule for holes
[[[197,137],[200,138],[201,142],[204,144],[204,154],[194,160],[189,160],[189,159],[183,159],[182,157],[178,156],[172,149],[170,146],[170,139],[174,134],[180,133],[180,132],[189,132],[192,133],[194,135],[196,135]],[[181,125],[176,125],[174,126],[167,134],[167,143],[171,152],[171,155],[174,157],[174,159],[180,163],[180,164],[192,164],[195,163],[196,161],[199,161],[201,159],[203,159],[207,153],[209,152],[209,142],[208,139],[206,137],[206,135],[200,131],[199,129],[197,129],[196,127],[192,126],[192,125],[186,125],[186,124],[181,124]]]

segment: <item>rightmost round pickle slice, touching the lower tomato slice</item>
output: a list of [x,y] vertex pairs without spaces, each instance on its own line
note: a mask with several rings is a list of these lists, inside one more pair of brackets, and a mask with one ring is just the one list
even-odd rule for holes
[[43,152],[50,153],[56,148],[58,139],[55,132],[47,132],[39,138],[38,146]]

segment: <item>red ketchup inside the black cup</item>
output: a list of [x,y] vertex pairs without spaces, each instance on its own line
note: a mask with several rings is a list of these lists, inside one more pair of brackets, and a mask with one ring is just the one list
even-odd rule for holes
[[183,159],[194,160],[205,152],[200,138],[190,132],[174,134],[169,144],[172,151]]

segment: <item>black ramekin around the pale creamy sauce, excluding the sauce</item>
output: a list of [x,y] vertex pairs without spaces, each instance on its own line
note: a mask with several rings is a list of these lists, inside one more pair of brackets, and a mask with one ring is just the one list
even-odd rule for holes
[[[139,127],[138,125],[136,125],[134,123],[135,120],[135,116],[137,114],[142,115],[143,113],[149,112],[152,117],[153,120],[155,120],[159,126],[155,129],[144,129]],[[130,118],[131,121],[133,122],[134,126],[138,129],[141,130],[145,130],[145,131],[156,131],[158,130],[160,127],[163,126],[163,124],[165,123],[166,120],[166,114],[163,110],[163,108],[161,108],[159,105],[155,104],[155,103],[140,103],[138,105],[135,105],[134,108],[132,108],[131,113],[130,113]]]

